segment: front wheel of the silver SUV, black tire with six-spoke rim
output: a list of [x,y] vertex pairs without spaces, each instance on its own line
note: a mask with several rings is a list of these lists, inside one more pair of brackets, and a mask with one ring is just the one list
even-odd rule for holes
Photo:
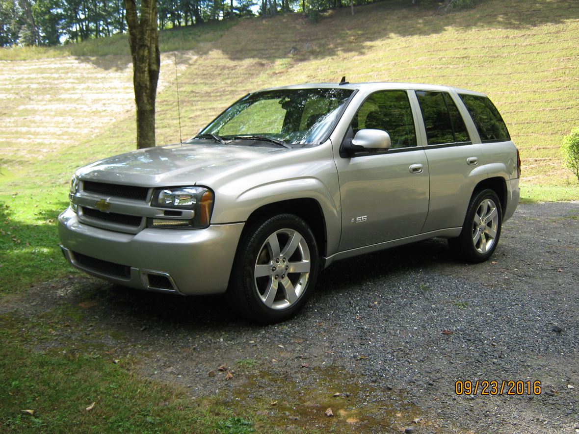
[[316,238],[305,220],[293,214],[256,220],[237,247],[228,301],[252,321],[285,321],[306,303],[318,264]]

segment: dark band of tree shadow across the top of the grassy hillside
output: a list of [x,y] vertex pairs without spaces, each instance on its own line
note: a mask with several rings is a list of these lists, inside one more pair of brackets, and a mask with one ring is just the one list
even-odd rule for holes
[[[331,10],[319,23],[312,23],[301,13],[275,17],[224,20],[199,26],[160,32],[162,52],[194,50],[206,56],[219,50],[229,60],[275,61],[292,57],[298,61],[332,57],[338,53],[364,54],[367,43],[393,36],[428,36],[443,34],[448,28],[524,30],[543,24],[560,24],[579,18],[579,3],[532,1],[508,3],[498,0],[481,2],[474,9],[441,14],[441,1],[387,0],[350,8]],[[450,36],[449,36],[450,37]],[[122,43],[121,43],[122,40]],[[112,52],[124,56],[89,57],[89,53],[108,53],[107,39],[71,46],[71,54],[83,53],[82,61],[100,68],[126,68],[130,65],[126,35],[111,39]],[[125,45],[126,44],[126,45]],[[116,47],[116,48],[115,48]],[[292,54],[290,54],[292,53]],[[216,68],[227,65],[216,64]]]

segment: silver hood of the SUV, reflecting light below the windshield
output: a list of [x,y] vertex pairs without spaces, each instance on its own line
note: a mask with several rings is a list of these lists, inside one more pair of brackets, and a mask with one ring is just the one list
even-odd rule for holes
[[156,146],[109,157],[80,168],[76,175],[83,180],[144,187],[193,185],[200,179],[291,151],[199,141]]

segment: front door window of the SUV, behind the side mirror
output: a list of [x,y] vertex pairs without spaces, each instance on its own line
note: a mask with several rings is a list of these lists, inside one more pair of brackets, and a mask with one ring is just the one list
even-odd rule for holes
[[390,134],[392,148],[416,146],[416,131],[408,94],[404,90],[384,90],[370,95],[352,120],[354,134],[363,128]]

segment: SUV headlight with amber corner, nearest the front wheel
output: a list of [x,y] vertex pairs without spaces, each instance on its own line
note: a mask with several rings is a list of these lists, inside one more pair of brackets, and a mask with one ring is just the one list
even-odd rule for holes
[[[160,208],[190,209],[193,218],[181,219],[150,219],[152,227],[182,227],[201,228],[209,226],[213,211],[213,192],[205,187],[175,187],[158,189],[153,192],[151,205]],[[166,211],[167,216],[177,216],[175,211]]]

